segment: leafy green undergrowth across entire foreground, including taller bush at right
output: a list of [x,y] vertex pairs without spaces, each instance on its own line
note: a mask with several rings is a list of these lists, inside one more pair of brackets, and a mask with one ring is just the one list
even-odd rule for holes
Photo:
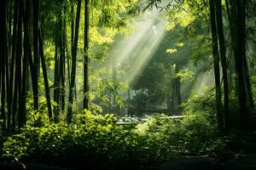
[[183,104],[183,119],[160,114],[137,125],[118,125],[117,116],[90,111],[70,125],[32,119],[19,133],[0,135],[1,159],[77,169],[148,169],[179,156],[222,162],[256,151],[253,128],[251,133],[218,133],[213,96],[190,98]]

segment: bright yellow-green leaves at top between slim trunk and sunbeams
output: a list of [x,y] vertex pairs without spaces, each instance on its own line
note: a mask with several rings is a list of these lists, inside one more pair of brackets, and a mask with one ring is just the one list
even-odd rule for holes
[[128,31],[129,7],[135,5],[132,1],[92,1],[90,6],[90,42],[102,44],[113,42],[113,38]]

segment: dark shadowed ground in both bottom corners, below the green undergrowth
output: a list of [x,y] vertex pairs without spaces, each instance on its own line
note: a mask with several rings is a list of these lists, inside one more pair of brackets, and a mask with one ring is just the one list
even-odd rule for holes
[[[40,163],[1,163],[4,170],[69,170],[67,168],[49,167]],[[207,156],[189,156],[174,158],[162,163],[156,170],[256,170],[256,154],[241,156],[240,158],[218,163]],[[70,169],[72,170],[72,169]]]

